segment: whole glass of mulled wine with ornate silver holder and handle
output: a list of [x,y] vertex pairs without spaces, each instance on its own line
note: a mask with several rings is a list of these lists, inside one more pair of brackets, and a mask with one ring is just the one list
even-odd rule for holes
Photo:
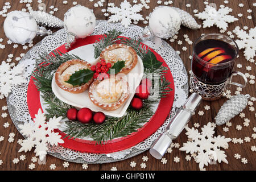
[[[207,34],[193,44],[191,61],[191,89],[204,100],[216,100],[230,85],[245,87],[247,79],[234,72],[238,47],[236,42],[222,34]],[[232,82],[234,75],[242,76],[245,84]]]

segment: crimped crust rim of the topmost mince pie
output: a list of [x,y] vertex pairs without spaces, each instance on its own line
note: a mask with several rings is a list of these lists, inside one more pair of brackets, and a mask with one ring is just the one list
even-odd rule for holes
[[[118,48],[125,48],[127,49],[131,55],[133,56],[133,63],[131,63],[129,66],[126,66],[124,68],[121,69],[121,71],[119,73],[129,73],[137,64],[138,62],[138,55],[136,53],[136,51],[130,47],[130,46],[126,46],[125,44],[113,44],[111,46],[106,47],[100,54],[100,59],[104,59],[105,58],[105,53],[108,51],[112,51],[113,49],[118,49]],[[106,63],[108,63],[108,60],[106,60]],[[111,69],[111,68],[110,68]]]

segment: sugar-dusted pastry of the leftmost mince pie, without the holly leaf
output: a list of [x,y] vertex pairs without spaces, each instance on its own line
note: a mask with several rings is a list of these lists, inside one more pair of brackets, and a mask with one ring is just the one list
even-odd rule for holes
[[60,65],[55,73],[56,84],[63,90],[71,93],[81,93],[89,88],[90,84],[93,82],[93,77],[82,85],[72,85],[67,81],[73,75],[73,73],[80,71],[82,69],[90,69],[90,64],[84,60],[69,60]]

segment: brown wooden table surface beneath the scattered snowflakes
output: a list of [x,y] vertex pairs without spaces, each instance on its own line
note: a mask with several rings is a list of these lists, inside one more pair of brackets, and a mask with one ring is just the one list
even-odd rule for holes
[[[26,8],[26,3],[19,3],[19,0],[14,0],[14,1],[8,1],[8,0],[1,0],[0,1],[0,10],[2,10],[2,7],[5,6],[5,2],[10,2],[11,3],[11,9],[8,10],[8,12],[13,11],[13,10],[22,10]],[[63,3],[63,0],[51,0],[51,1],[46,1],[43,0],[43,3],[46,3],[46,7],[47,7],[47,12],[51,11],[49,9],[50,6],[54,6],[57,7],[59,10],[57,12],[55,12],[55,16],[59,17],[60,19],[63,19],[64,13],[70,8],[72,7],[72,2],[71,0],[68,0],[67,5],[65,5]],[[86,7],[89,7],[90,9],[93,9],[94,14],[96,15],[97,19],[108,19],[104,16],[104,13],[101,12],[101,9],[107,9],[108,6],[108,2],[113,2],[116,6],[119,6],[119,4],[122,1],[118,1],[118,0],[109,0],[109,1],[105,1],[104,2],[104,7],[94,7],[94,3],[97,3],[96,0],[94,0],[93,2],[90,2],[88,0],[77,0],[76,1],[77,4],[80,5],[84,5]],[[129,0],[129,2],[131,2],[131,5],[133,5],[132,0]],[[139,2],[139,1],[138,1]],[[157,1],[153,1],[151,0],[150,3],[148,3],[148,5],[150,6],[150,9],[145,9],[143,7],[143,10],[141,11],[141,14],[143,15],[144,18],[146,18],[146,16],[148,16],[148,14],[150,14],[150,12],[154,9],[155,6],[158,6],[158,4],[156,3]],[[163,5],[162,1],[162,5]],[[194,14],[193,10],[197,9],[199,10],[199,12],[202,12],[204,10],[204,1],[203,0],[174,0],[174,3],[172,3],[171,5],[168,6],[175,6],[175,7],[179,7],[180,9],[183,9],[185,11],[187,11],[190,14]],[[253,3],[256,3],[256,1],[253,0],[242,0],[242,1],[238,1],[238,0],[229,0],[229,2],[227,4],[224,3],[224,0],[221,1],[208,1],[210,2],[214,2],[216,3],[217,7],[219,7],[219,5],[225,5],[228,7],[231,7],[233,9],[233,12],[230,13],[231,15],[234,15],[235,17],[237,17],[239,20],[234,22],[234,23],[229,23],[229,27],[227,31],[232,31],[234,30],[234,28],[236,26],[240,26],[241,28],[243,26],[247,26],[249,29],[251,27],[255,27],[255,11],[256,8],[255,6],[253,6]],[[191,7],[186,7],[186,4],[189,3],[191,4]],[[243,7],[239,7],[238,3],[243,3]],[[34,0],[31,3],[31,6],[34,10],[37,10],[38,7],[38,1]],[[252,13],[247,13],[247,10],[251,9]],[[240,18],[237,16],[237,14],[243,14],[243,16]],[[251,15],[252,19],[247,19],[247,16]],[[197,19],[195,17],[195,19],[197,20],[198,23],[202,24],[202,21],[200,19]],[[13,57],[13,63],[18,64],[18,61],[15,60],[15,57],[19,57],[20,53],[26,53],[28,51],[28,49],[24,50],[22,48],[21,45],[18,46],[18,48],[13,48],[13,44],[7,44],[7,38],[4,34],[3,31],[3,22],[4,22],[5,18],[3,18],[2,16],[0,16],[0,24],[1,24],[1,28],[0,28],[0,38],[3,39],[2,44],[6,45],[5,49],[0,49],[0,55],[1,55],[1,61],[2,60],[6,60],[8,59],[8,55],[10,53],[13,53],[14,57]],[[146,24],[143,24],[142,21],[140,21],[138,23],[139,26],[146,26]],[[226,32],[227,32],[226,31]],[[248,30],[247,30],[248,31]],[[210,27],[210,28],[200,28],[199,30],[191,30],[189,28],[185,28],[185,27],[181,27],[179,34],[178,34],[178,38],[175,40],[175,42],[171,43],[168,41],[168,43],[175,49],[175,50],[179,50],[180,53],[180,57],[183,60],[183,63],[187,69],[187,71],[189,71],[191,69],[191,60],[189,60],[189,55],[192,54],[192,45],[188,45],[188,43],[185,42],[183,35],[187,34],[189,36],[189,39],[191,39],[192,41],[195,41],[196,38],[198,38],[201,34],[207,34],[207,33],[213,33],[213,32],[219,32],[219,29],[216,26]],[[226,32],[224,32],[225,35]],[[34,39],[34,44],[39,42],[40,40],[42,40],[42,37],[38,36]],[[177,40],[181,40],[183,42],[182,45],[178,45],[177,44]],[[182,47],[185,46],[187,47],[187,51],[182,51]],[[237,69],[238,71],[242,72],[242,73],[246,73],[248,72],[250,75],[255,75],[256,73],[256,69],[255,69],[255,63],[250,63],[249,61],[246,61],[245,57],[243,56],[243,50],[239,51],[239,55],[240,57],[237,59],[237,63],[236,64],[242,64],[242,68],[238,69],[237,67],[235,67],[235,69]],[[255,58],[254,58],[255,59]],[[246,67],[247,66],[251,66],[251,71],[247,71]],[[1,78],[0,78],[1,79]],[[238,78],[238,81],[242,81],[240,80],[240,78]],[[234,92],[236,91],[236,86],[232,86],[232,88],[230,89],[232,91],[232,94],[234,94]],[[247,84],[246,88],[242,89],[241,94],[250,94],[251,96],[256,97],[255,94],[255,84]],[[193,115],[191,121],[189,122],[189,127],[192,127],[194,123],[199,123],[200,127],[203,127],[203,125],[207,124],[208,122],[214,122],[214,117],[216,116],[218,110],[220,109],[220,107],[222,106],[222,104],[226,101],[226,98],[221,98],[220,100],[217,101],[203,101],[201,103],[201,105],[199,106],[199,108],[196,111],[196,114]],[[3,100],[0,100],[0,108],[2,108],[2,106],[7,105],[6,104],[6,99],[4,98]],[[209,105],[210,106],[210,110],[204,110],[204,106],[205,105]],[[254,105],[255,107],[255,102]],[[204,111],[204,115],[200,116],[197,114],[197,112],[199,110],[203,110]],[[6,111],[0,110],[0,115],[2,113],[5,113]],[[7,112],[8,113],[8,112]],[[208,167],[205,167],[206,170],[255,170],[256,169],[256,155],[255,152],[251,151],[251,146],[256,146],[255,144],[255,139],[253,139],[253,137],[251,137],[251,135],[253,133],[255,133],[255,131],[253,131],[253,127],[256,126],[255,123],[255,111],[249,111],[249,106],[246,107],[245,110],[243,110],[243,113],[245,113],[245,118],[250,119],[250,125],[248,127],[243,126],[243,118],[240,118],[239,116],[236,116],[235,118],[233,118],[231,120],[232,122],[232,126],[229,127],[229,131],[228,132],[224,132],[224,130],[222,129],[225,125],[222,126],[217,126],[215,131],[216,133],[214,135],[224,135],[226,138],[241,138],[244,139],[245,137],[250,137],[251,140],[250,142],[245,142],[245,140],[243,141],[242,144],[234,144],[232,142],[229,142],[229,148],[225,150],[225,154],[227,155],[226,159],[228,160],[229,164],[225,164],[225,163],[217,163],[216,165],[209,165]],[[0,117],[1,121],[0,121],[0,136],[5,137],[5,139],[0,142],[0,160],[3,161],[2,165],[0,166],[0,170],[30,170],[28,169],[28,165],[32,163],[31,158],[33,156],[35,156],[34,150],[32,149],[32,151],[30,152],[21,152],[19,153],[18,150],[20,148],[20,145],[17,143],[18,139],[23,139],[22,135],[19,134],[18,130],[16,129],[16,127],[14,126],[13,122],[11,121],[11,118],[8,114],[8,116],[6,118],[2,118]],[[5,128],[3,127],[3,123],[5,122],[9,122],[10,126]],[[242,130],[238,131],[236,129],[237,125],[241,125],[242,126]],[[254,129],[255,130],[255,129]],[[8,142],[8,138],[9,138],[9,134],[10,133],[15,133],[15,137],[14,137],[14,142],[13,143],[9,143]],[[185,131],[183,131],[181,133],[181,135],[174,141],[174,142],[178,142],[180,144],[180,146],[182,146],[182,144],[184,142],[187,142],[187,136],[185,135]],[[241,158],[246,158],[247,159],[247,164],[243,164],[241,162],[241,159],[236,159],[234,158],[234,154],[240,154]],[[22,161],[20,160],[18,162],[18,164],[14,164],[13,163],[13,159],[14,158],[19,158],[20,155],[26,155],[26,160]],[[160,160],[157,160],[155,158],[153,158],[150,153],[148,151],[143,152],[142,154],[139,154],[137,156],[134,156],[133,158],[129,158],[126,160],[123,160],[121,162],[115,162],[115,163],[106,163],[106,164],[89,164],[88,168],[86,170],[110,170],[112,167],[116,167],[117,170],[171,170],[171,171],[175,171],[175,170],[199,170],[199,164],[195,162],[195,160],[193,160],[193,158],[191,159],[191,161],[187,161],[185,159],[185,156],[187,154],[185,154],[184,151],[179,151],[178,148],[173,148],[173,151],[171,152],[171,154],[167,153],[164,155],[164,158],[167,159],[167,164],[162,164]],[[148,156],[148,160],[146,163],[146,168],[142,169],[140,164],[143,163],[142,157],[143,156]],[[175,163],[174,162],[174,157],[178,156],[180,158],[180,162],[179,163]],[[130,167],[130,162],[134,161],[135,163],[137,163],[137,166],[134,168]],[[57,159],[54,158],[51,155],[47,155],[47,162],[46,165],[39,165],[37,162],[35,163],[35,169],[34,170],[50,170],[49,166],[51,164],[56,164],[56,169],[55,170],[85,170],[82,169],[82,164],[77,164],[77,163],[71,163],[69,162],[69,167],[68,168],[64,168],[63,167],[63,163],[64,160],[61,159]]]

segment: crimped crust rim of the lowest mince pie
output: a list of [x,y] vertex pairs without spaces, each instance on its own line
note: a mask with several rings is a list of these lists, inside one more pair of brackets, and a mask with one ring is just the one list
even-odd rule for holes
[[[92,85],[90,85],[90,88],[89,88],[89,98],[93,102],[93,104],[98,106],[98,107],[101,107],[104,110],[115,110],[115,109],[118,109],[119,107],[121,107],[125,103],[127,98],[129,98],[130,94],[129,94],[129,84],[128,84],[128,82],[123,81],[122,78],[120,80],[123,82],[123,85],[127,86],[126,87],[127,92],[122,93],[121,98],[119,98],[118,101],[115,101],[115,102],[110,103],[110,104],[101,103],[100,101],[97,100],[97,98],[96,98],[97,96],[94,96],[93,91],[96,89],[96,86],[98,84],[100,84],[101,81],[100,80],[93,81]],[[104,80],[102,80],[102,81],[104,81]]]

